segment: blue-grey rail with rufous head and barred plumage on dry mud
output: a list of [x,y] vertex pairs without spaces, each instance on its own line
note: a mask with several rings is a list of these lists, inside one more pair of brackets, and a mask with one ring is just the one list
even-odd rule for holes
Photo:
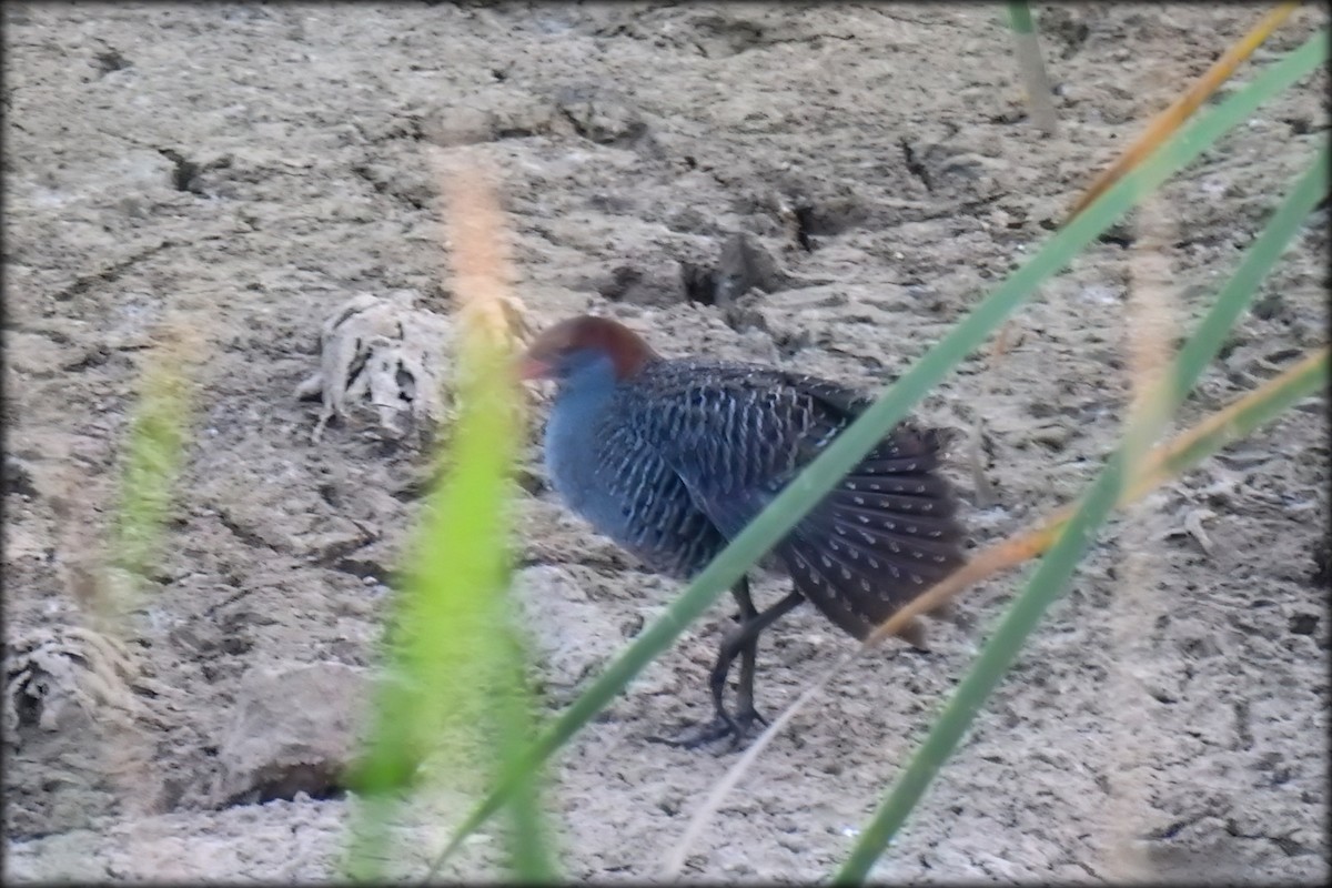
[[[543,435],[551,487],[593,529],[649,570],[689,579],[734,539],[874,398],[782,369],[706,357],[667,358],[619,321],[583,314],[541,332],[518,375],[555,383]],[[793,590],[765,611],[749,579],[731,588],[737,627],[709,678],[714,718],[698,747],[739,746],[767,724],[754,702],[758,636],[809,600],[863,640],[906,602],[963,563],[939,429],[899,423],[762,563]],[[902,635],[922,646],[922,627]],[[735,706],[725,702],[737,656]]]

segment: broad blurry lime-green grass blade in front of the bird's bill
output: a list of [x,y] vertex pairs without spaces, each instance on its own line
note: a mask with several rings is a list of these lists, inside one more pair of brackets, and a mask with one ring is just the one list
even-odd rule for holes
[[[442,780],[476,791],[476,775],[511,771],[531,742],[526,662],[507,598],[509,474],[521,439],[511,358],[480,334],[462,337],[460,353],[452,459],[428,502],[389,636],[390,666],[405,680],[380,692],[356,774],[362,800],[346,873],[362,881],[386,875],[396,795],[426,751],[444,750]],[[553,883],[539,770],[521,776],[509,799],[510,867],[525,884]]]

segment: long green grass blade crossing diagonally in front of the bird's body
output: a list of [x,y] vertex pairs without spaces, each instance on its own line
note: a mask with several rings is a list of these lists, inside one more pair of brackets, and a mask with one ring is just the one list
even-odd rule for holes
[[566,708],[496,788],[460,824],[430,868],[434,872],[477,827],[486,821],[514,789],[514,781],[545,762],[654,658],[733,586],[750,564],[785,537],[840,478],[868,453],[888,429],[936,386],[967,354],[1040,284],[1068,265],[1083,248],[1171,174],[1193,161],[1227,130],[1244,122],[1257,107],[1312,72],[1327,57],[1327,37],[1319,33],[1283,60],[1255,76],[1209,113],[1195,118],[1146,162],[1098,198],[1087,212],[1054,234],[1046,245],[986,297],[943,339],[891,385],[866,413],[848,426],[806,470],[779,494],[634,642]]

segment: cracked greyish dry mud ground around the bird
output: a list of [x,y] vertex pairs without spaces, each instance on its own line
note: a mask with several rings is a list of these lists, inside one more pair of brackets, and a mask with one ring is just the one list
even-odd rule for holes
[[[348,800],[330,774],[429,466],[364,417],[313,442],[320,405],[293,391],[356,294],[413,290],[448,314],[426,152],[500,170],[534,326],[593,308],[665,353],[875,385],[1256,19],[1038,12],[1054,140],[1024,120],[992,5],[7,4],[5,642],[47,663],[7,674],[7,879],[336,872]],[[1253,64],[1324,19],[1301,9]],[[1325,140],[1327,88],[1325,71],[1301,83],[1164,189],[1158,254],[1181,321]],[[1180,427],[1325,342],[1327,221],[1304,228]],[[1016,316],[1002,359],[974,355],[922,406],[983,430],[987,505],[958,471],[975,545],[1068,502],[1116,439],[1143,240],[1139,217],[1118,225]],[[76,668],[57,650],[84,624],[69,578],[105,531],[168,313],[206,338],[180,499],[127,663]],[[1301,403],[1112,523],[878,877],[1328,879],[1325,409]],[[677,586],[558,507],[534,433],[519,578],[555,710]],[[826,873],[1014,582],[968,594],[931,652],[888,647],[838,680],[687,875]],[[651,877],[729,767],[645,742],[707,715],[727,618],[711,611],[559,756],[570,877]],[[763,639],[761,702],[775,712],[848,643],[797,611]],[[89,668],[119,683],[80,686]],[[418,812],[397,871],[418,873],[466,807],[444,795]],[[497,848],[486,831],[446,875],[494,872]]]

